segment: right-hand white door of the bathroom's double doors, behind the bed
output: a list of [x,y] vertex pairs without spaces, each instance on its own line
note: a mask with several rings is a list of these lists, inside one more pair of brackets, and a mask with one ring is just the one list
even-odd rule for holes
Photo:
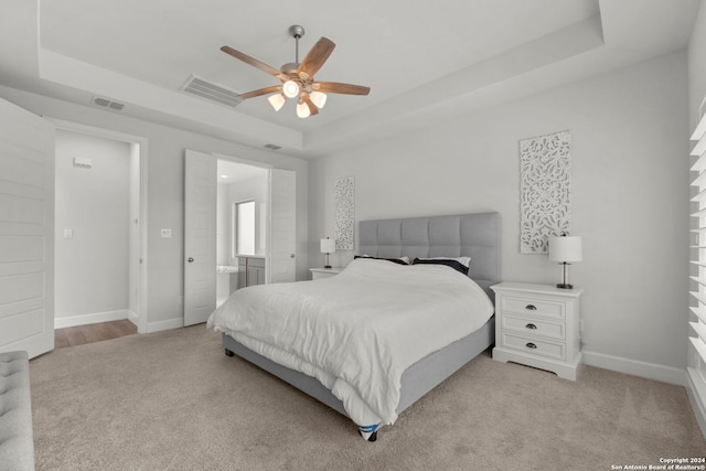
[[295,281],[297,277],[297,173],[270,171],[270,250],[268,282]]

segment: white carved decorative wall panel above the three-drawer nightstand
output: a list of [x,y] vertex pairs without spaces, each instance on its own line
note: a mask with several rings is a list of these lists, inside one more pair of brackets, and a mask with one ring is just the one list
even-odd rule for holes
[[552,235],[571,225],[571,133],[520,141],[520,251],[546,254]]

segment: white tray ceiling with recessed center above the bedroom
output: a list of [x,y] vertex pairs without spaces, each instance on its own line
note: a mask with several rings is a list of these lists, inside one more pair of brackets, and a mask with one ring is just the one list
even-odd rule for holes
[[[698,0],[3,0],[0,85],[300,157],[325,156],[683,49]],[[336,47],[319,81],[371,87],[329,95],[317,116],[266,97],[236,108],[180,92],[192,75],[239,93],[321,36]],[[117,111],[114,111],[117,113]]]

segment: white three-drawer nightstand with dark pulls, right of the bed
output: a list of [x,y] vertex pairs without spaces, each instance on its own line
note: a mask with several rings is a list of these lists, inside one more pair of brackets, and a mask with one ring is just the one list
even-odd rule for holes
[[581,363],[581,288],[501,282],[495,292],[493,360],[547,370],[576,381]]

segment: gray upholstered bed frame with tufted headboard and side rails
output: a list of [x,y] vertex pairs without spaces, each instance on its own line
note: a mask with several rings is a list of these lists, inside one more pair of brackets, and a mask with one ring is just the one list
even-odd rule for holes
[[[477,213],[360,223],[360,254],[374,257],[471,257],[469,277],[494,300],[490,287],[500,282],[500,214]],[[495,318],[470,335],[434,352],[411,365],[402,376],[397,414],[421,398],[478,354],[493,345]],[[347,417],[343,404],[317,378],[266,358],[223,334],[226,355],[238,355],[274,374]],[[377,439],[377,429],[361,435]]]

